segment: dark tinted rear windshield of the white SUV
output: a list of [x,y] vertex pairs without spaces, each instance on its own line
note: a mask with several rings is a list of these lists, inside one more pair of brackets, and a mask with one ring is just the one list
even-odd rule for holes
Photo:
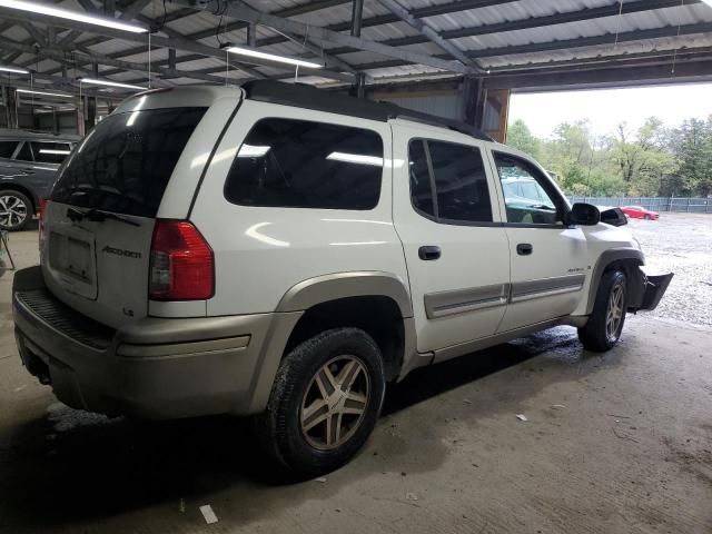
[[206,109],[149,109],[107,117],[60,169],[51,199],[155,217],[176,162]]

